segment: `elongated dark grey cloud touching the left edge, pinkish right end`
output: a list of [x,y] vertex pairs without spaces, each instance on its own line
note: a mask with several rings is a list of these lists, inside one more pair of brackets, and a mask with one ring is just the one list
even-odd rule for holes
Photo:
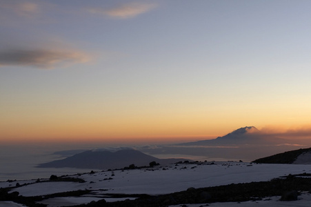
[[70,63],[84,63],[90,57],[76,50],[10,49],[0,51],[0,66],[54,68]]

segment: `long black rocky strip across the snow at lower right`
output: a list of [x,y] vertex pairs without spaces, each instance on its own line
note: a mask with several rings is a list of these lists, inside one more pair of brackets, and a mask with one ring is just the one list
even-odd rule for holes
[[[170,206],[178,204],[209,204],[214,202],[256,201],[265,197],[279,196],[281,201],[297,200],[299,191],[311,189],[311,178],[300,175],[288,175],[271,181],[252,182],[248,184],[230,184],[209,188],[188,188],[185,191],[168,195],[137,195],[135,200],[117,201],[103,204],[83,204],[79,207],[97,206]],[[128,195],[124,195],[128,197]],[[78,206],[75,206],[78,207]]]

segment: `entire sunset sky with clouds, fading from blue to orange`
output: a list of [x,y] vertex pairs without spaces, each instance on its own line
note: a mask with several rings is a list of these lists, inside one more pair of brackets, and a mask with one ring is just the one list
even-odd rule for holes
[[308,131],[310,7],[0,0],[0,142]]

